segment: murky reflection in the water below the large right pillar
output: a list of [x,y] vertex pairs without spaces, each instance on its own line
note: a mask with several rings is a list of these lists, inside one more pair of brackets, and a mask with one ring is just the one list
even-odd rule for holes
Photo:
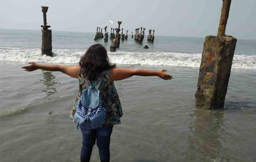
[[192,116],[196,119],[189,125],[186,162],[220,161],[224,111],[195,109]]

